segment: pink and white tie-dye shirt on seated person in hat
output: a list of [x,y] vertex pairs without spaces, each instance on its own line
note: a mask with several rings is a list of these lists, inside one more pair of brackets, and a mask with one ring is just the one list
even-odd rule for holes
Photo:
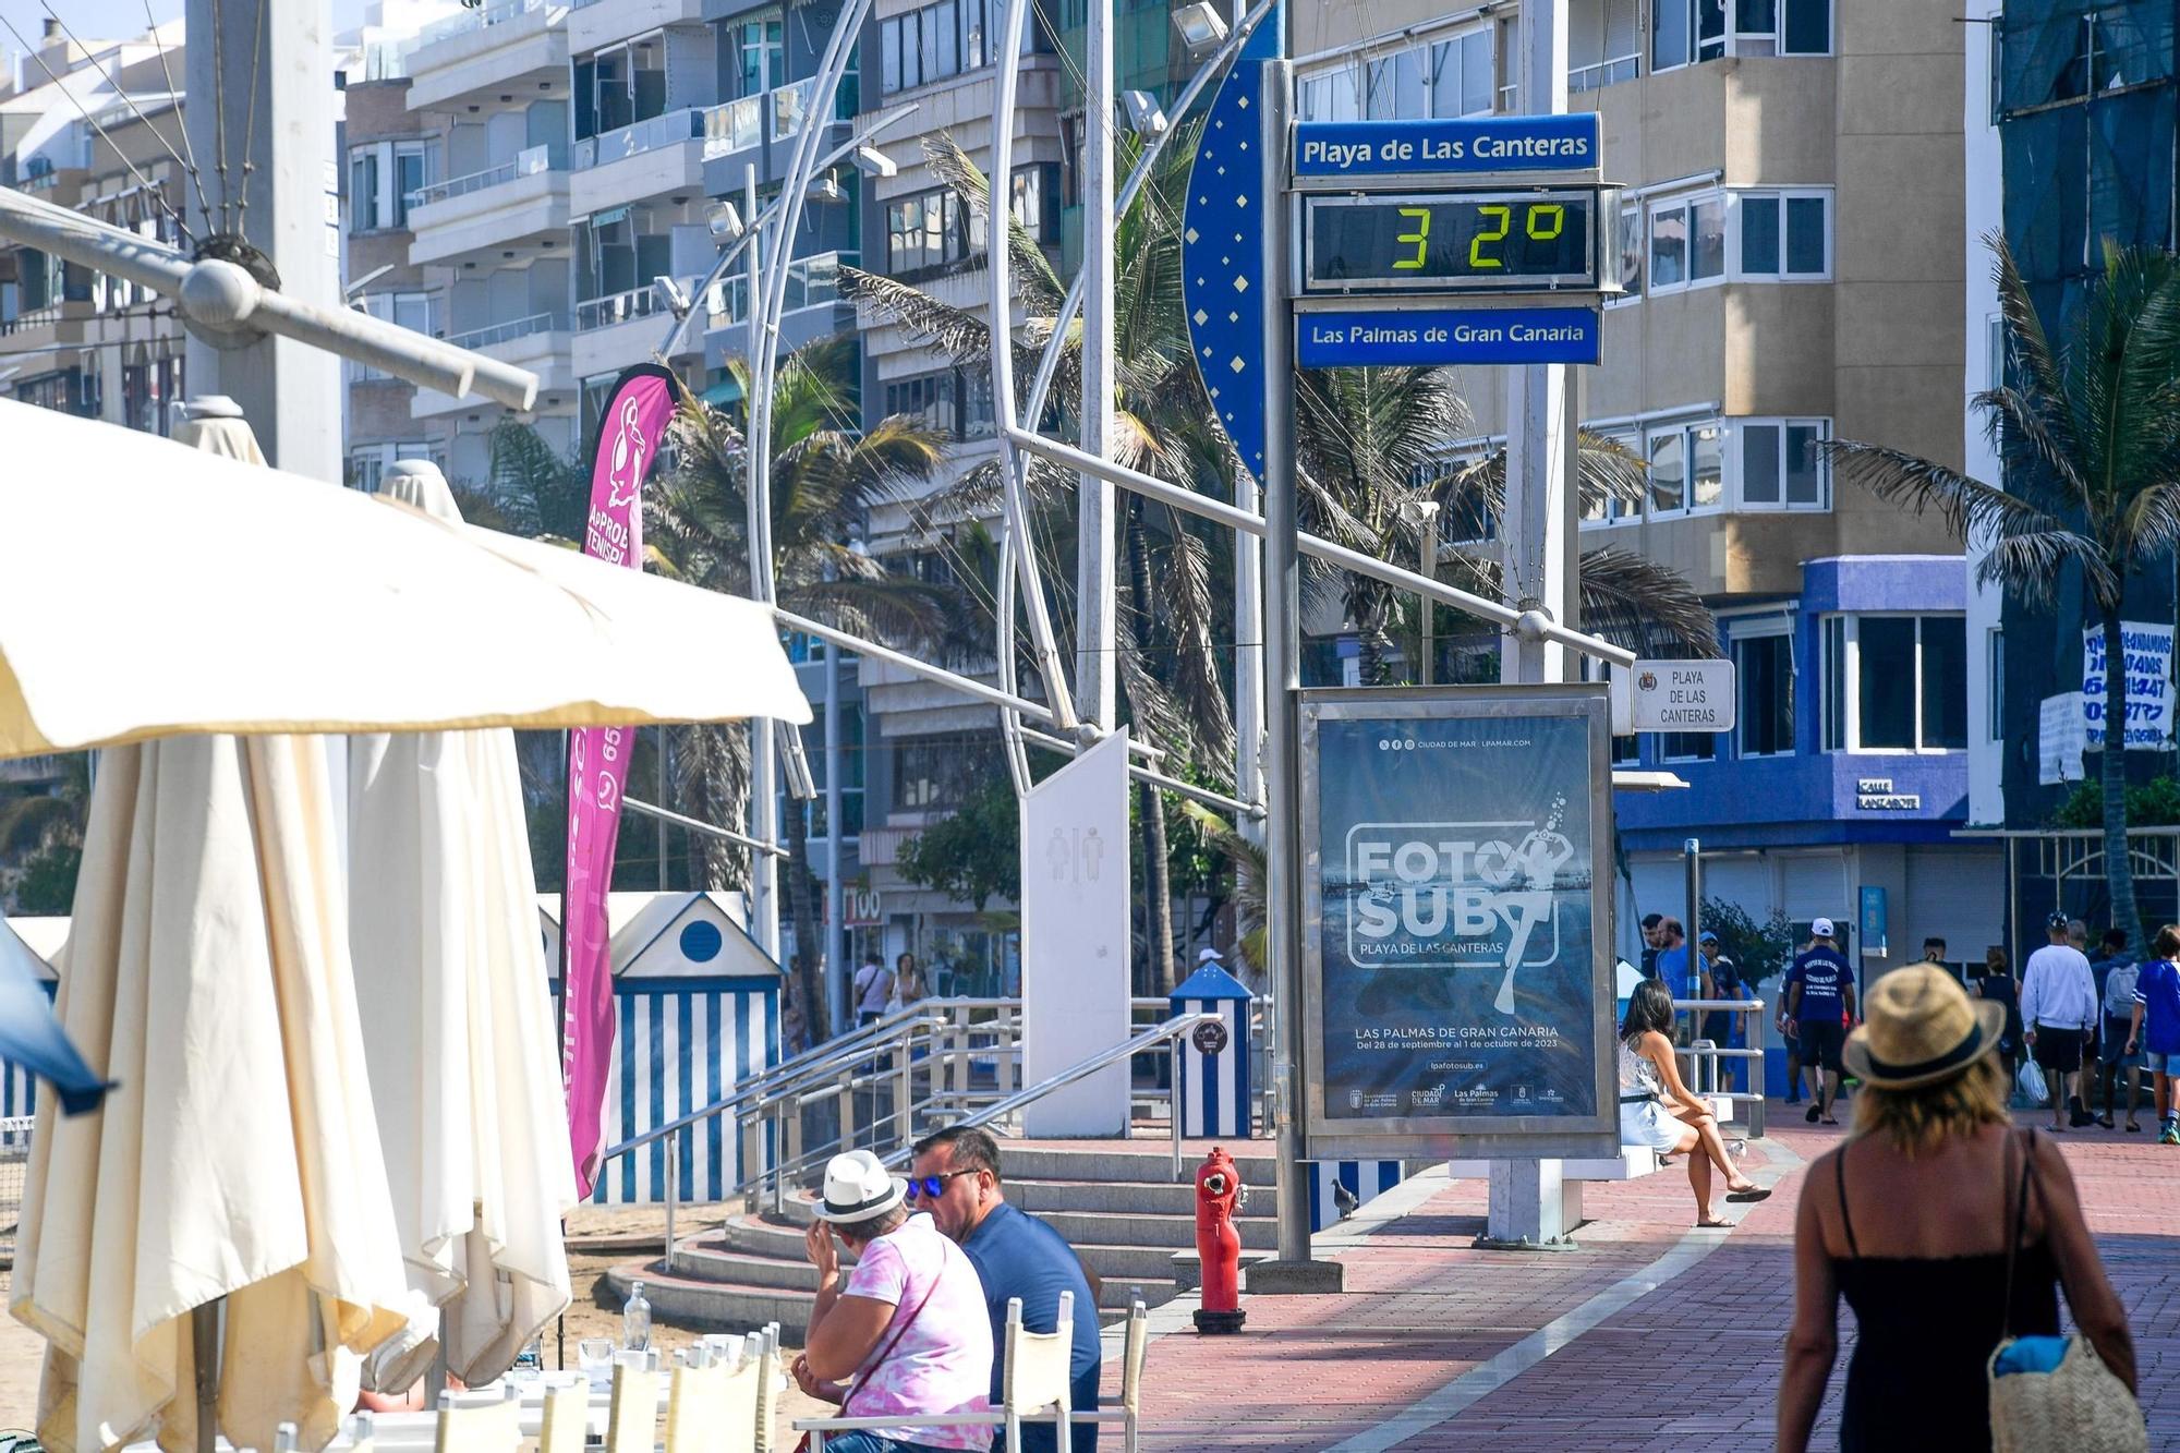
[[[855,1390],[846,1418],[887,1414],[983,1412],[992,1390],[992,1318],[983,1305],[983,1283],[961,1248],[940,1235],[929,1215],[911,1215],[896,1230],[863,1248],[848,1272],[846,1296],[892,1302],[894,1316],[879,1335],[872,1357],[885,1361]],[[931,1300],[924,1300],[929,1292]],[[922,1311],[918,1311],[922,1302]],[[916,1322],[903,1333],[909,1316]],[[900,1340],[894,1342],[894,1335]],[[857,1368],[857,1372],[865,1372]],[[885,1427],[881,1438],[931,1449],[992,1446],[985,1427]]]

